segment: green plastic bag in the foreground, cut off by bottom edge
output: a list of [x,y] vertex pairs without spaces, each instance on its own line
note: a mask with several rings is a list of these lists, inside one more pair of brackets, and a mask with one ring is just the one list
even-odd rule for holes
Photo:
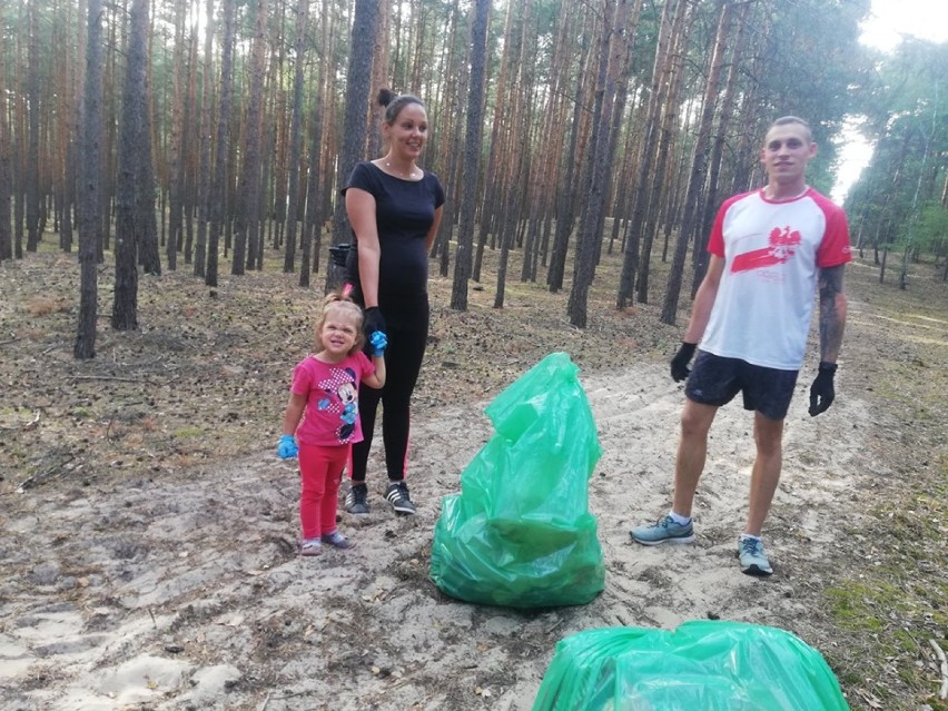
[[820,653],[776,628],[685,622],[561,640],[533,711],[846,711]]

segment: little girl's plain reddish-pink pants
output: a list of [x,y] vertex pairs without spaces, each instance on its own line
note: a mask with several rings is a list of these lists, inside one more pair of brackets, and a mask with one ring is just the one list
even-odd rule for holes
[[299,523],[304,539],[315,539],[336,530],[336,501],[343,468],[352,445],[336,447],[299,445]]

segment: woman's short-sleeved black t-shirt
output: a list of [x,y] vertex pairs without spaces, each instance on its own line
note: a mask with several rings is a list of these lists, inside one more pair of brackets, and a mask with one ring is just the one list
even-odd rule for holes
[[[375,198],[375,224],[378,229],[378,303],[427,293],[428,254],[425,239],[434,221],[435,209],[444,205],[444,189],[433,172],[423,171],[421,180],[403,180],[364,161],[349,176],[348,188],[359,188]],[[353,235],[354,244],[358,239]],[[346,277],[362,299],[358,255],[350,249]]]

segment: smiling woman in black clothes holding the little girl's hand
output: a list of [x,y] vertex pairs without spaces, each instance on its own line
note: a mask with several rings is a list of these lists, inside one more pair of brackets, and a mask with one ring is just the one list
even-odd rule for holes
[[388,336],[388,374],[381,391],[359,392],[365,438],[353,445],[346,511],[368,513],[365,473],[381,401],[388,473],[385,498],[397,513],[413,514],[415,506],[405,483],[409,401],[428,338],[428,250],[441,224],[444,189],[437,176],[417,166],[428,136],[421,99],[383,89],[378,102],[386,107],[382,134],[388,152],[359,162],[343,195],[354,234],[347,279],[353,298],[365,308],[366,333],[381,330]]

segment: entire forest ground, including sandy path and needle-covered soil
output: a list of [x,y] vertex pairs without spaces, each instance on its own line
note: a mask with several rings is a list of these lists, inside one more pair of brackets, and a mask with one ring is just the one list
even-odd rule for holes
[[[109,328],[101,266],[88,362],[72,357],[75,255],[0,264],[3,709],[525,710],[559,640],[709,618],[797,634],[853,709],[948,709],[936,650],[948,650],[948,284],[930,265],[912,265],[907,290],[895,271],[880,284],[871,260],[849,268],[838,397],[807,415],[811,348],[764,532],[776,573],[758,580],[734,560],[753,451],[738,404],[712,429],[695,544],[629,540],[670,501],[683,394],[666,363],[687,309],[660,324],[653,289],[616,310],[618,255],[584,329],[565,317],[569,288],[510,280],[493,308],[492,253],[466,312],[433,276],[418,514],[391,512],[374,454],[372,513],[340,508],[356,546],[296,556],[298,475],[274,447],[322,287],[300,289],[273,260],[216,288],[186,266],[144,277],[132,333]],[[453,600],[428,577],[442,498],[493,434],[484,407],[553,352],[580,366],[603,448],[589,495],[605,590],[533,611]]]

